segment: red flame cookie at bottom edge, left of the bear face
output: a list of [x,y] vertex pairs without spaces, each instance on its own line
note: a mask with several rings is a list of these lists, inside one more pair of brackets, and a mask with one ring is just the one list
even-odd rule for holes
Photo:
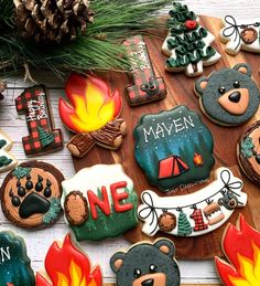
[[45,258],[45,272],[36,274],[35,286],[101,286],[99,266],[91,269],[89,258],[74,245],[67,234],[63,245],[54,242]]

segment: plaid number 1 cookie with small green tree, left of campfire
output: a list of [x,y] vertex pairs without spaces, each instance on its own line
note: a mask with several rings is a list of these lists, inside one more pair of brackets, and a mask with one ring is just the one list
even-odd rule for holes
[[63,148],[61,129],[55,129],[50,95],[44,85],[26,88],[17,99],[19,114],[25,114],[29,136],[23,137],[26,155],[53,152]]

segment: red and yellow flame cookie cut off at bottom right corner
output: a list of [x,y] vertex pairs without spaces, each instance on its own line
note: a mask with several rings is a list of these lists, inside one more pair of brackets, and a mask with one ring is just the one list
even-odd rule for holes
[[229,224],[223,237],[229,263],[216,257],[216,267],[226,286],[260,285],[260,232],[240,214],[238,226]]

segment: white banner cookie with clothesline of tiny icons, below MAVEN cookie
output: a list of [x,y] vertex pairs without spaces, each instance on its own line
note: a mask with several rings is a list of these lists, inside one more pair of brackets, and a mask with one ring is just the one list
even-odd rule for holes
[[159,197],[153,191],[141,194],[139,219],[142,231],[153,236],[163,231],[177,236],[197,236],[223,225],[236,208],[245,206],[247,194],[242,181],[227,168],[216,171],[216,180],[191,194]]

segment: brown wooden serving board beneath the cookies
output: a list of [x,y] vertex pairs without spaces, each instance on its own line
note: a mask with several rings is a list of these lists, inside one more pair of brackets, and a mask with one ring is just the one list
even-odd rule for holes
[[[240,52],[235,57],[228,55],[225,52],[224,44],[221,44],[217,38],[220,30],[220,20],[215,18],[201,17],[201,24],[206,27],[213,34],[216,35],[214,46],[223,55],[217,64],[204,68],[204,75],[209,75],[213,71],[223,68],[225,66],[232,67],[237,63],[247,62],[252,66],[253,77],[259,85],[260,81],[258,68],[260,55],[243,52]],[[155,102],[143,106],[130,107],[124,96],[124,88],[130,83],[129,77],[126,74],[120,73],[101,74],[101,76],[110,83],[112,88],[117,87],[122,94],[123,110],[121,117],[127,121],[128,135],[124,138],[122,148],[118,151],[109,151],[100,147],[94,147],[94,149],[86,157],[82,159],[74,158],[75,169],[78,171],[84,167],[89,167],[96,163],[121,163],[129,177],[132,178],[139,195],[143,190],[147,189],[158,191],[158,193],[162,195],[162,193],[156,190],[155,187],[148,183],[143,171],[134,160],[134,139],[132,133],[142,115],[172,109],[176,105],[187,105],[191,109],[197,112],[202,116],[203,123],[206,124],[212,130],[215,141],[214,155],[216,159],[214,169],[221,166],[229,167],[234,173],[242,178],[245,182],[243,191],[248,193],[248,205],[245,209],[236,210],[229,222],[236,223],[238,213],[240,211],[247,218],[249,223],[252,225],[254,224],[257,229],[260,229],[260,213],[258,211],[258,205],[260,205],[259,187],[253,186],[241,173],[236,157],[236,145],[242,130],[246,128],[246,125],[227,128],[213,124],[205,117],[205,115],[203,115],[198,107],[198,98],[193,92],[194,81],[196,78],[188,78],[184,73],[172,74],[165,72],[164,63],[166,57],[161,53],[161,46],[163,40],[165,39],[166,32],[166,30],[162,30],[159,31],[153,38],[145,36],[145,42],[156,76],[162,76],[165,81],[167,87],[166,98],[161,102]],[[249,123],[247,123],[247,125],[256,121],[257,119],[260,119],[260,110],[258,110],[257,115]],[[203,188],[203,186],[201,184],[194,189],[186,190],[185,192],[194,192],[198,188]],[[182,191],[182,193],[184,192]],[[180,193],[176,192],[176,194]],[[220,242],[226,225],[227,224],[209,234],[196,237],[176,237],[166,235],[165,233],[160,233],[158,236],[166,236],[175,243],[177,248],[177,258],[207,259],[213,258],[215,255],[223,255]],[[145,236],[141,232],[141,223],[137,229],[130,231],[124,236],[132,243],[143,240],[151,240],[151,237]]]

